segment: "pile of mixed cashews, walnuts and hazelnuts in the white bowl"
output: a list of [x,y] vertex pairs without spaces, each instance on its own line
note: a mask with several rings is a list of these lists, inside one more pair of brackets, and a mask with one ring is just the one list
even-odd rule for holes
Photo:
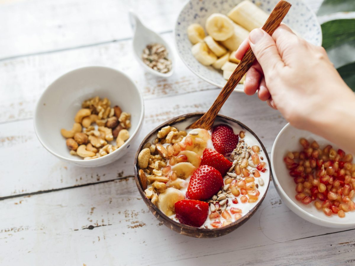
[[[130,113],[122,112],[117,105],[111,107],[110,100],[99,96],[83,101],[81,107],[74,117],[72,129],[60,131],[71,155],[84,160],[99,158],[112,153],[129,139]],[[114,139],[115,144],[110,144]]]

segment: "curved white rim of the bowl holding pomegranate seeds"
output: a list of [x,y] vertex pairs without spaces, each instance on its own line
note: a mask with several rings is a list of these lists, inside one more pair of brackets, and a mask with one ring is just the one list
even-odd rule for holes
[[[280,184],[278,178],[277,178],[277,175],[276,175],[276,172],[275,172],[275,167],[274,167],[274,153],[275,153],[275,146],[279,140],[279,138],[281,137],[281,135],[289,128],[292,128],[293,126],[290,124],[290,123],[287,123],[281,130],[280,132],[277,134],[276,138],[275,138],[275,141],[274,141],[274,144],[272,145],[272,149],[271,149],[271,171],[272,171],[272,176],[273,176],[273,182],[274,182],[274,185],[275,185],[275,188],[278,192],[278,194],[281,194],[280,195],[280,198],[283,199],[285,201],[285,204],[288,206],[289,204],[291,205],[288,206],[289,209],[291,211],[293,211],[296,215],[300,216],[301,218],[309,221],[309,222],[312,222],[312,223],[315,223],[317,225],[320,225],[320,226],[328,226],[328,227],[351,227],[351,226],[354,226],[355,225],[355,221],[353,223],[349,223],[349,222],[345,222],[345,223],[338,223],[338,222],[333,222],[333,221],[328,221],[324,218],[320,218],[320,217],[316,217],[312,214],[310,214],[308,211],[302,209],[300,206],[298,206],[296,203],[294,203],[293,200],[291,200],[290,196],[285,192],[285,190],[282,188],[282,185]],[[292,209],[294,208],[294,209]],[[308,219],[304,218],[304,217],[307,217]]]

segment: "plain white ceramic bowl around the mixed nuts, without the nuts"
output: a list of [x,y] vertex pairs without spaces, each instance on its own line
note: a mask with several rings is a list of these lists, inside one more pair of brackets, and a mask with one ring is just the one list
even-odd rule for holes
[[[130,138],[113,153],[83,160],[69,154],[61,128],[71,129],[82,101],[94,96],[107,97],[111,106],[119,105],[131,113]],[[34,129],[51,154],[83,167],[102,166],[122,157],[141,127],[144,103],[140,90],[126,74],[108,67],[83,67],[59,77],[44,91],[35,109]]]

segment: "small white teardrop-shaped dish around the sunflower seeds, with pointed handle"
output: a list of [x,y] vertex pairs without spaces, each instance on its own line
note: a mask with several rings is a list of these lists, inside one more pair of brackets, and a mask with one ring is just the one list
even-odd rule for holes
[[[173,50],[171,50],[170,45],[166,43],[166,41],[160,37],[159,34],[153,32],[151,29],[148,29],[146,26],[143,25],[143,23],[140,21],[140,19],[137,17],[135,13],[132,11],[129,11],[129,18],[131,22],[131,27],[134,32],[133,35],[133,53],[138,60],[138,62],[142,65],[142,67],[148,71],[149,73],[167,78],[170,77],[173,74],[174,67],[175,67],[175,60],[174,60],[174,54]],[[152,68],[148,67],[142,60],[142,53],[143,50],[146,48],[148,44],[152,43],[159,43],[165,46],[166,50],[168,50],[168,59],[171,60],[171,70],[167,73],[160,73],[159,71],[155,71]]]

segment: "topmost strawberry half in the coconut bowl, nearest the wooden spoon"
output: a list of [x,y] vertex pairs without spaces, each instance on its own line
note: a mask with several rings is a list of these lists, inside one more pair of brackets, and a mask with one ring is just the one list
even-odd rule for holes
[[223,155],[231,153],[238,144],[239,137],[234,134],[233,128],[220,124],[212,130],[212,143],[214,148]]

